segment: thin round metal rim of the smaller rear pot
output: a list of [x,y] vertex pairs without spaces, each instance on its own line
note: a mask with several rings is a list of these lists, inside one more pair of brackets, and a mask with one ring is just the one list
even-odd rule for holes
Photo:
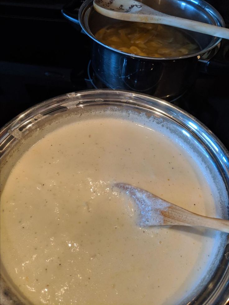
[[[190,2],[191,4],[193,4],[193,0],[186,0],[187,2]],[[213,17],[215,24],[214,25],[218,25],[220,24],[222,27],[225,27],[225,22],[222,18],[222,16],[220,15],[220,13],[212,6],[210,5],[208,2],[205,2],[204,0],[198,0],[198,3],[202,4],[202,7],[204,8],[204,10],[211,12],[211,16]],[[185,58],[190,58],[190,57],[198,57],[198,59],[201,58],[201,55],[203,55],[204,53],[207,53],[208,51],[210,51],[211,49],[213,49],[214,47],[216,47],[222,40],[222,38],[220,37],[216,37],[214,36],[214,40],[215,42],[212,44],[210,44],[209,47],[206,47],[205,49],[193,53],[193,54],[189,54],[189,55],[185,55],[185,56],[177,56],[177,57],[148,57],[148,56],[140,56],[140,55],[135,55],[135,54],[131,54],[131,53],[125,53],[123,51],[120,51],[118,49],[114,49],[111,48],[110,46],[103,44],[102,42],[100,42],[98,39],[96,39],[96,37],[92,34],[89,26],[87,24],[85,24],[84,22],[84,15],[85,13],[91,9],[92,11],[94,10],[93,7],[93,0],[86,0],[82,3],[80,9],[79,9],[79,24],[82,27],[82,31],[86,33],[86,35],[88,35],[91,39],[93,39],[96,43],[102,45],[103,47],[105,47],[106,49],[110,49],[113,52],[118,52],[120,54],[125,55],[126,57],[131,57],[131,58],[138,58],[138,59],[147,59],[147,60],[176,60],[176,59],[185,59]],[[217,18],[215,16],[215,13],[217,13],[218,17]]]

